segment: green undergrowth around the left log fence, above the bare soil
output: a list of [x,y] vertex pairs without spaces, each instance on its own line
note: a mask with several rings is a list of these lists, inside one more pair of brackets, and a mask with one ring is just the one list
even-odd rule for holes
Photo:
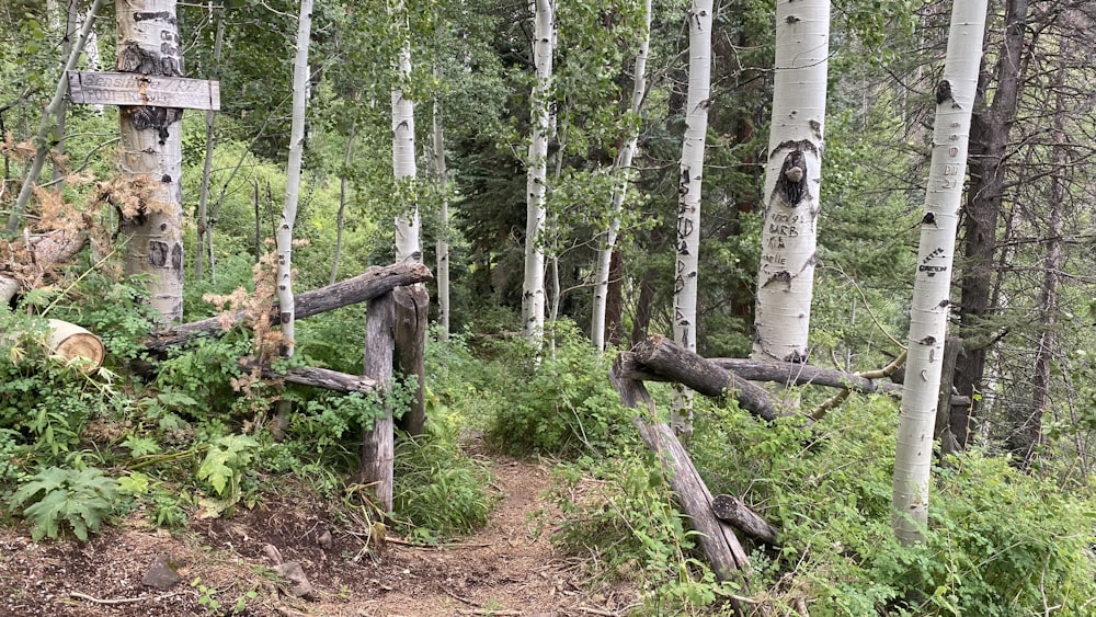
[[[193,294],[231,292],[251,270],[246,260],[222,267],[233,265],[240,272],[226,271],[220,287],[195,286],[187,306],[214,313]],[[152,330],[145,307],[137,285],[88,271],[22,298],[15,311],[0,308],[0,522],[25,522],[35,539],[84,540],[133,511],[150,524],[182,528],[195,517],[233,516],[299,485],[347,525],[361,521],[349,513],[380,514],[372,504],[363,507],[368,488],[354,483],[362,432],[386,407],[399,416],[411,384],[397,384],[381,401],[260,381],[237,363],[254,354],[242,329],[151,357],[140,343]],[[28,315],[46,310],[104,340],[100,370],[50,355],[46,320]],[[361,370],[361,307],[311,318],[297,343],[298,355],[275,369]],[[444,347],[430,353],[444,355]],[[458,381],[455,376],[444,387]],[[469,400],[461,397],[432,390],[426,434],[397,435],[391,519],[415,541],[470,533],[493,503],[488,466],[458,442],[465,412],[442,401]],[[282,441],[270,430],[278,400],[293,409]]]

